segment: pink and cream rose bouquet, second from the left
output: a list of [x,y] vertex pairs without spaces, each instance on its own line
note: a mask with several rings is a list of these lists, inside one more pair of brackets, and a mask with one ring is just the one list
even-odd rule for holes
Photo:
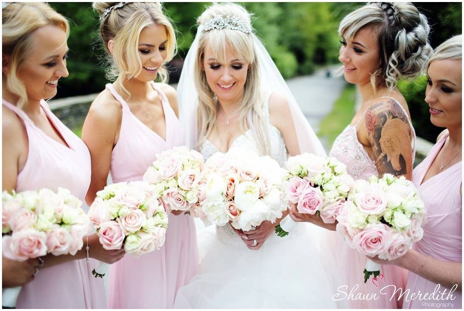
[[[119,182],[97,192],[90,205],[94,224],[104,249],[124,249],[140,256],[159,249],[165,239],[167,215],[153,185],[143,181]],[[109,265],[93,269],[102,278]]]

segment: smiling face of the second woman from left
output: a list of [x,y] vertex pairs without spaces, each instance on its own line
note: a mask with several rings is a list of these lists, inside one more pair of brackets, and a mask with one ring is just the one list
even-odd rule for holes
[[156,79],[159,67],[167,56],[167,33],[163,25],[147,26],[139,36],[139,56],[142,61],[142,71],[136,79],[142,82]]

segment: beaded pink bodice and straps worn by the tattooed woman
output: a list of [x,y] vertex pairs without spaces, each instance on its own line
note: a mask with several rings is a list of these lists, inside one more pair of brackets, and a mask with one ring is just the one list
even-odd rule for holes
[[[382,98],[382,97],[381,97]],[[383,97],[391,98],[391,97]],[[399,105],[405,115],[408,115],[401,104],[394,98],[391,98]],[[363,119],[361,117],[360,121]],[[413,163],[416,155],[416,132],[414,131],[411,121],[408,122],[413,133]],[[358,122],[359,124],[359,122]],[[371,160],[364,146],[359,142],[356,133],[356,125],[348,125],[343,132],[333,142],[332,149],[329,152],[330,157],[335,157],[346,165],[346,170],[355,180],[356,179],[369,179],[372,175],[379,177],[379,172],[375,166],[374,161]]]

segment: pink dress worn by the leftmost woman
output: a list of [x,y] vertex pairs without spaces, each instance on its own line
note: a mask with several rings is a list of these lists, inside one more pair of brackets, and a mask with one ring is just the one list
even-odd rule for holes
[[[22,120],[28,136],[27,160],[18,174],[15,190],[62,187],[84,202],[91,174],[90,153],[84,142],[53,115],[44,100],[40,102],[43,112],[68,146],[46,135],[11,103],[3,100],[3,105]],[[91,274],[97,264],[93,259],[89,264],[85,260],[75,260],[40,269],[35,279],[22,287],[16,307],[105,308],[103,280]]]

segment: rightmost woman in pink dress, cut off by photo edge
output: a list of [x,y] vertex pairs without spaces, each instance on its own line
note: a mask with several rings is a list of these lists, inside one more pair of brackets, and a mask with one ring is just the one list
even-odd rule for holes
[[[427,210],[424,236],[392,264],[410,271],[403,308],[462,308],[462,35],[439,45],[427,66],[425,101],[446,127],[413,172]],[[414,299],[413,294],[434,294]]]

